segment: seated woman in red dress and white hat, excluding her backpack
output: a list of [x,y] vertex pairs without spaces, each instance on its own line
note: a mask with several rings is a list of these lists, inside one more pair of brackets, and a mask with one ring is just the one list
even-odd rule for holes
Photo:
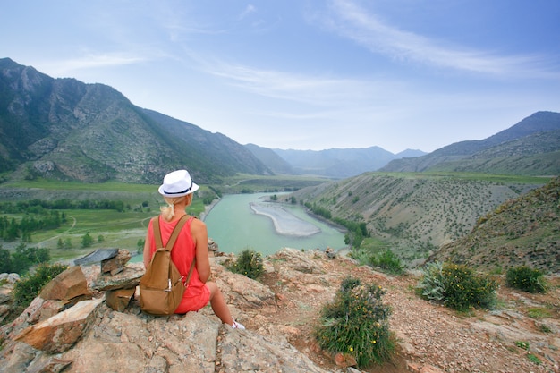
[[[178,170],[165,175],[164,183],[158,189],[167,202],[167,206],[161,208],[161,214],[158,216],[164,246],[177,222],[182,216],[187,215],[185,208],[191,205],[192,195],[198,189],[199,185],[192,182],[191,175],[186,170]],[[150,220],[144,244],[144,267],[148,268],[156,250],[154,228]],[[190,216],[177,237],[174,249],[171,251],[171,259],[181,275],[186,278],[191,269],[192,260],[195,258],[196,266],[193,269],[191,281],[182,296],[179,307],[175,309],[175,313],[198,311],[209,301],[214,313],[222,322],[236,329],[244,329],[242,324],[232,318],[224,296],[216,283],[208,281],[210,277],[208,232],[204,222]]]

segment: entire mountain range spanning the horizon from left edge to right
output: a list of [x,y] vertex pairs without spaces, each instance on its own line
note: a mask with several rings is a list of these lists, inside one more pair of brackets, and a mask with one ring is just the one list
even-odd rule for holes
[[186,167],[199,182],[242,174],[342,179],[368,171],[560,174],[560,114],[539,112],[487,140],[433,153],[383,148],[283,150],[241,145],[221,133],[134,106],[103,84],[53,79],[0,59],[0,174],[82,182],[156,183]]

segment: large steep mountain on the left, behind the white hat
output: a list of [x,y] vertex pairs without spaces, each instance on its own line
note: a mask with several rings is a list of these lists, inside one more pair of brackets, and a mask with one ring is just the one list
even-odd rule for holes
[[155,183],[182,167],[205,183],[271,173],[241,144],[134,106],[111,87],[0,59],[0,172]]

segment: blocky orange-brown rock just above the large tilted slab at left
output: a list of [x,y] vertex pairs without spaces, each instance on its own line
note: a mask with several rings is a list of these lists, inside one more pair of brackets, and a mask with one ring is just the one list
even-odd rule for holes
[[39,296],[44,300],[68,303],[76,297],[89,296],[91,298],[91,293],[81,268],[74,266],[66,269],[46,284]]

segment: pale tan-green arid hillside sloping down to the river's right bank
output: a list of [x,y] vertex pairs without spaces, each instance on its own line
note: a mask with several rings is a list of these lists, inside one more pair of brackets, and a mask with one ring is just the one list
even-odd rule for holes
[[366,173],[296,191],[301,202],[332,216],[365,222],[411,263],[471,232],[480,216],[547,179],[499,179],[468,174]]

